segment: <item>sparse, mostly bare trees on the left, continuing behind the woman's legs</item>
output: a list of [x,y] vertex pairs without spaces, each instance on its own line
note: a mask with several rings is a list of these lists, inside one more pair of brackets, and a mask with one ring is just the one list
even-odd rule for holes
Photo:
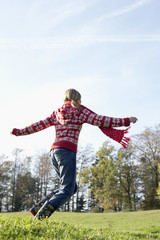
[[[77,156],[77,173],[94,162],[94,158],[91,145],[81,147]],[[25,156],[22,149],[14,149],[10,158],[0,156],[0,212],[28,211],[44,196],[58,189],[59,184],[49,152],[42,151],[31,157]],[[77,193],[60,210],[84,209],[87,190],[80,186],[78,174],[77,184]]]

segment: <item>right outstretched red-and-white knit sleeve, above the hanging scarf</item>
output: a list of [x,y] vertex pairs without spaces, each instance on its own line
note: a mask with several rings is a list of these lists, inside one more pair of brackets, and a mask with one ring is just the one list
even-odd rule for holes
[[86,107],[83,109],[83,114],[85,123],[89,123],[98,127],[113,128],[121,126],[127,127],[130,125],[130,118],[114,118],[98,115]]

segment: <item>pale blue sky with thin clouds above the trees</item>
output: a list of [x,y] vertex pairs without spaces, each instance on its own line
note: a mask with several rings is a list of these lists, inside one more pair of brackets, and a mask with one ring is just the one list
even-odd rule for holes
[[[159,124],[159,9],[159,0],[0,0],[0,153],[49,150],[54,128],[9,133],[49,116],[68,88],[98,114],[137,116],[130,136]],[[84,125],[80,145],[105,140]]]

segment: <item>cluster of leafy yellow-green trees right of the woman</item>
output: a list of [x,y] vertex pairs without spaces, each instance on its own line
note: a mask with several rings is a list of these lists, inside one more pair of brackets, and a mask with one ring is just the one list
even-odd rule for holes
[[95,206],[113,211],[160,208],[160,124],[132,139],[126,150],[118,151],[105,142],[98,162],[80,173]]

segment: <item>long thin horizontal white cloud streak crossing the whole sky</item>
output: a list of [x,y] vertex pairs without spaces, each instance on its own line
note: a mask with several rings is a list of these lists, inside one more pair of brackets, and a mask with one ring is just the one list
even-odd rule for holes
[[60,48],[86,47],[105,43],[141,43],[158,42],[160,34],[151,35],[109,35],[109,36],[75,36],[63,39],[0,39],[0,50],[52,50]]

